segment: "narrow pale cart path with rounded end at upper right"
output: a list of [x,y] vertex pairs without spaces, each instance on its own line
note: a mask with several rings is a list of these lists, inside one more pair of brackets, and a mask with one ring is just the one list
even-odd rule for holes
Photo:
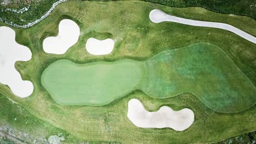
[[154,9],[149,14],[149,19],[154,23],[160,23],[163,21],[170,21],[170,22],[177,22],[182,23],[184,25],[190,25],[190,26],[200,26],[200,27],[213,27],[213,28],[220,28],[225,29],[227,31],[230,31],[232,33],[235,33],[239,35],[240,37],[247,39],[251,41],[252,43],[256,44],[256,38],[252,35],[241,31],[240,29],[233,27],[231,25],[228,25],[226,23],[220,23],[220,22],[208,22],[208,21],[196,21],[196,20],[189,20],[189,19],[183,19],[181,17],[171,16],[168,15],[161,10]]

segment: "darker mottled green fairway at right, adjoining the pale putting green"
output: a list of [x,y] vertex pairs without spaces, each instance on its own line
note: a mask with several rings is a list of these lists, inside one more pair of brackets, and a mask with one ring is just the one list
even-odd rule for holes
[[197,43],[167,50],[146,62],[142,91],[154,98],[189,92],[212,110],[232,113],[256,102],[256,88],[220,47]]

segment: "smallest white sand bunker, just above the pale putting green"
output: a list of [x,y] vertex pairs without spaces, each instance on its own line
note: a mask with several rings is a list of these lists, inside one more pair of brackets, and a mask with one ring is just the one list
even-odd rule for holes
[[91,55],[107,55],[114,49],[114,40],[89,38],[86,41],[85,48]]

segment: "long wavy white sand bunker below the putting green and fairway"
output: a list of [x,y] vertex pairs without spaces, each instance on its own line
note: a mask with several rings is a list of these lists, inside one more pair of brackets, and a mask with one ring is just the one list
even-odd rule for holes
[[129,101],[127,117],[140,128],[168,127],[176,131],[183,131],[194,122],[194,113],[190,109],[173,111],[168,106],[162,106],[156,112],[148,112],[137,99]]

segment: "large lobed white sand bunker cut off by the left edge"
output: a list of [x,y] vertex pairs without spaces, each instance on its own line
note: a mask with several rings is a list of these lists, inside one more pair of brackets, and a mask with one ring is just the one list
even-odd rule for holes
[[21,98],[31,95],[34,87],[32,82],[21,79],[14,64],[16,61],[29,61],[31,57],[28,47],[16,43],[13,29],[0,27],[0,82]]

